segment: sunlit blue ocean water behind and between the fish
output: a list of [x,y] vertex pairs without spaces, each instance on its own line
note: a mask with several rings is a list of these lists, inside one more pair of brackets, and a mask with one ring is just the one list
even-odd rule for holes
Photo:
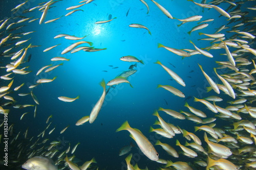
[[[181,149],[175,144],[176,139],[182,144],[185,143],[182,134],[177,134],[174,138],[167,139],[155,135],[154,132],[148,132],[150,126],[153,126],[157,119],[156,116],[152,115],[153,112],[159,107],[178,112],[180,110],[188,111],[188,109],[184,107],[185,102],[188,102],[190,106],[205,112],[207,117],[215,116],[214,113],[208,110],[202,103],[194,102],[193,96],[203,99],[210,95],[217,95],[212,90],[206,92],[206,87],[208,87],[209,84],[203,76],[198,64],[202,65],[204,71],[216,83],[221,84],[213,68],[218,67],[215,61],[228,61],[225,55],[221,55],[225,54],[225,50],[210,50],[209,52],[214,55],[214,58],[194,55],[182,59],[181,56],[171,53],[164,48],[158,48],[157,44],[161,43],[177,49],[195,49],[193,44],[189,43],[189,40],[191,40],[198,47],[204,48],[210,46],[211,43],[210,41],[198,40],[200,38],[206,38],[204,35],[200,36],[198,34],[199,32],[213,34],[221,26],[226,25],[231,28],[236,25],[237,22],[227,25],[229,22],[226,20],[227,18],[224,16],[219,17],[220,14],[216,10],[204,9],[204,12],[202,12],[202,8],[195,5],[193,2],[184,0],[158,0],[157,2],[166,8],[175,18],[184,19],[194,15],[202,15],[203,17],[200,21],[209,18],[214,18],[215,20],[208,22],[209,26],[207,28],[192,32],[189,36],[187,32],[197,26],[200,21],[184,23],[184,25],[178,27],[177,25],[179,25],[181,21],[166,17],[152,1],[146,1],[150,7],[150,11],[146,14],[146,6],[138,0],[95,0],[79,8],[83,11],[77,11],[67,17],[63,16],[69,12],[66,8],[78,5],[79,1],[59,1],[49,9],[46,20],[62,16],[60,19],[47,24],[42,23],[41,25],[39,25],[38,20],[19,24],[20,26],[26,25],[26,27],[16,30],[13,33],[35,31],[22,38],[22,40],[31,38],[23,45],[26,46],[32,43],[32,45],[39,46],[28,49],[28,55],[31,54],[32,57],[30,62],[23,64],[24,67],[29,66],[28,70],[32,70],[32,72],[28,75],[16,74],[12,87],[25,83],[24,87],[20,88],[18,93],[28,93],[31,91],[28,87],[32,84],[36,84],[37,80],[53,79],[55,76],[57,76],[57,78],[51,83],[40,84],[33,88],[33,93],[37,96],[39,101],[35,118],[34,107],[14,109],[12,106],[9,106],[5,108],[11,109],[8,118],[9,124],[14,124],[13,136],[20,132],[18,140],[14,143],[22,143],[23,150],[22,158],[17,159],[15,158],[15,154],[17,151],[20,151],[20,148],[17,148],[17,144],[10,144],[10,147],[12,145],[14,147],[10,148],[9,152],[10,164],[13,163],[11,161],[17,160],[18,163],[15,162],[15,165],[19,165],[19,167],[15,168],[22,169],[20,167],[21,164],[27,160],[28,155],[33,152],[33,150],[45,146],[45,148],[42,149],[43,151],[38,152],[38,154],[44,155],[44,152],[48,152],[47,148],[50,142],[56,140],[61,141],[61,144],[57,148],[59,152],[52,158],[54,161],[57,160],[57,156],[61,152],[69,147],[69,143],[71,143],[72,149],[75,144],[80,142],[75,151],[75,157],[79,160],[77,162],[78,165],[94,157],[99,169],[125,169],[126,163],[124,158],[127,155],[118,156],[119,150],[124,147],[124,145],[129,145],[131,141],[134,143],[135,141],[129,136],[129,132],[121,131],[116,133],[115,131],[126,120],[131,127],[139,129],[153,144],[156,140],[161,140],[163,143],[172,145],[179,152]],[[201,1],[195,2],[201,3]],[[6,1],[1,3],[5,12],[1,10],[0,20],[12,17],[8,22],[9,24],[19,20],[13,19],[15,16],[22,15],[34,19],[40,18],[42,14],[37,9],[33,12],[22,13],[25,9],[37,6],[41,1],[31,0],[15,14],[10,12],[10,10],[23,2]],[[246,2],[240,7],[242,11],[249,12],[247,17],[255,16],[251,10],[245,8],[251,7],[252,5],[253,2]],[[230,5],[228,3],[221,3],[218,6],[222,9],[227,9]],[[112,15],[112,18],[117,18],[109,23],[100,25],[94,24],[96,21],[108,20],[110,15]],[[147,27],[152,35],[148,34],[148,31],[145,29],[129,27],[132,23],[139,23]],[[239,29],[243,30],[244,28],[241,26]],[[222,30],[220,33],[225,34],[227,38],[234,34],[227,33],[226,30]],[[3,34],[7,36],[9,33],[5,32]],[[74,54],[67,53],[61,55],[60,53],[67,46],[78,41],[67,40],[63,37],[54,39],[53,37],[58,34],[69,34],[77,37],[87,36],[83,40],[93,42],[95,48],[106,48],[106,50],[91,53],[79,51]],[[46,48],[56,44],[60,45],[48,52],[43,52]],[[3,47],[1,53],[7,48],[8,47]],[[103,91],[102,87],[99,85],[101,80],[104,79],[105,82],[108,82],[122,71],[127,70],[130,65],[135,64],[134,62],[130,63],[120,60],[122,56],[127,55],[135,56],[144,61],[144,64],[137,63],[137,67],[134,67],[134,69],[137,69],[137,72],[128,78],[133,88],[126,83],[117,85],[106,95],[99,115],[93,124],[87,122],[82,126],[75,126],[75,123],[81,117],[90,115],[93,106],[99,100]],[[53,57],[66,57],[70,59],[70,61],[51,61],[50,59]],[[157,60],[175,71],[185,81],[186,86],[183,87],[178,84],[159,64],[155,64]],[[3,57],[1,61],[1,65],[3,66],[11,62],[9,58]],[[42,66],[50,64],[57,65],[60,63],[63,63],[63,65],[53,71],[48,73],[42,72],[40,75],[36,76],[37,70]],[[109,65],[113,65],[113,67]],[[230,70],[223,69],[218,71],[219,74],[224,74]],[[2,69],[1,73],[4,75],[5,70]],[[7,85],[8,82],[7,80],[2,80],[1,86]],[[157,88],[158,84],[170,85],[181,90],[185,94],[185,98],[179,98],[163,88]],[[16,105],[35,104],[31,95],[18,96],[17,92],[10,95],[17,101],[17,103],[15,103]],[[58,96],[75,98],[77,95],[80,95],[80,98],[72,103],[65,103],[58,100]],[[218,103],[220,107],[228,106],[227,101],[232,100],[230,96],[223,92],[218,96],[223,98],[223,101]],[[20,120],[20,116],[25,112],[29,113]],[[161,111],[159,111],[159,114],[166,122],[186,129],[189,132],[194,132],[194,126],[198,126],[189,120],[176,119]],[[50,115],[53,115],[53,117],[50,119],[51,125],[49,129],[45,131],[43,138],[41,136],[38,137],[37,135],[48,126],[46,120]],[[219,118],[217,118],[215,123],[219,128],[230,125],[230,123],[226,124],[225,121]],[[60,134],[59,132],[68,125],[70,125],[70,127],[63,134]],[[54,127],[56,127],[56,129],[49,135],[49,131]],[[153,127],[156,128],[157,126],[154,125]],[[28,138],[24,139],[23,134],[27,128]],[[196,132],[195,134],[203,141],[202,131]],[[34,138],[30,141],[32,137]],[[46,138],[49,138],[49,140],[45,144],[38,144],[33,150],[30,149],[30,146],[34,142],[40,143]],[[203,146],[206,148],[207,144],[203,142]],[[159,153],[159,158],[172,160],[173,162],[191,162],[191,166],[195,169],[200,169],[199,166],[193,163],[195,160],[201,159],[206,161],[207,159],[207,156],[203,154],[200,154],[198,158],[188,158],[182,154],[180,154],[179,158],[174,158],[167,155],[159,145],[155,148]],[[149,169],[157,169],[161,166],[160,163],[151,161],[143,154],[140,155],[137,145],[135,148],[132,148],[131,153],[135,155],[133,158],[134,163],[138,163],[139,167],[142,169],[144,169],[145,166]],[[73,154],[68,153],[67,155],[70,157]],[[60,167],[63,167],[63,162],[60,163]],[[69,168],[66,167],[66,169]]]

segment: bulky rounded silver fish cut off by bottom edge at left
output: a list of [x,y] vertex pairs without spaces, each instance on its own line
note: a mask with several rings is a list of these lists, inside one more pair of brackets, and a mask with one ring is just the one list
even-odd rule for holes
[[35,156],[33,158],[28,159],[23,165],[24,169],[34,169],[34,170],[57,170],[57,166],[55,166],[52,159],[43,157],[43,156]]

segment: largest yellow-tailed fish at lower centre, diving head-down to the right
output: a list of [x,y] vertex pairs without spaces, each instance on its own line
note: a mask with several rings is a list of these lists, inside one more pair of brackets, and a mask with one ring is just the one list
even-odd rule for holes
[[153,161],[157,161],[158,153],[156,152],[155,148],[153,147],[152,143],[148,141],[148,139],[138,130],[131,128],[129,123],[126,121],[124,122],[120,128],[116,130],[116,132],[127,130],[131,133],[131,137],[136,141],[138,147],[140,148],[141,152]]

